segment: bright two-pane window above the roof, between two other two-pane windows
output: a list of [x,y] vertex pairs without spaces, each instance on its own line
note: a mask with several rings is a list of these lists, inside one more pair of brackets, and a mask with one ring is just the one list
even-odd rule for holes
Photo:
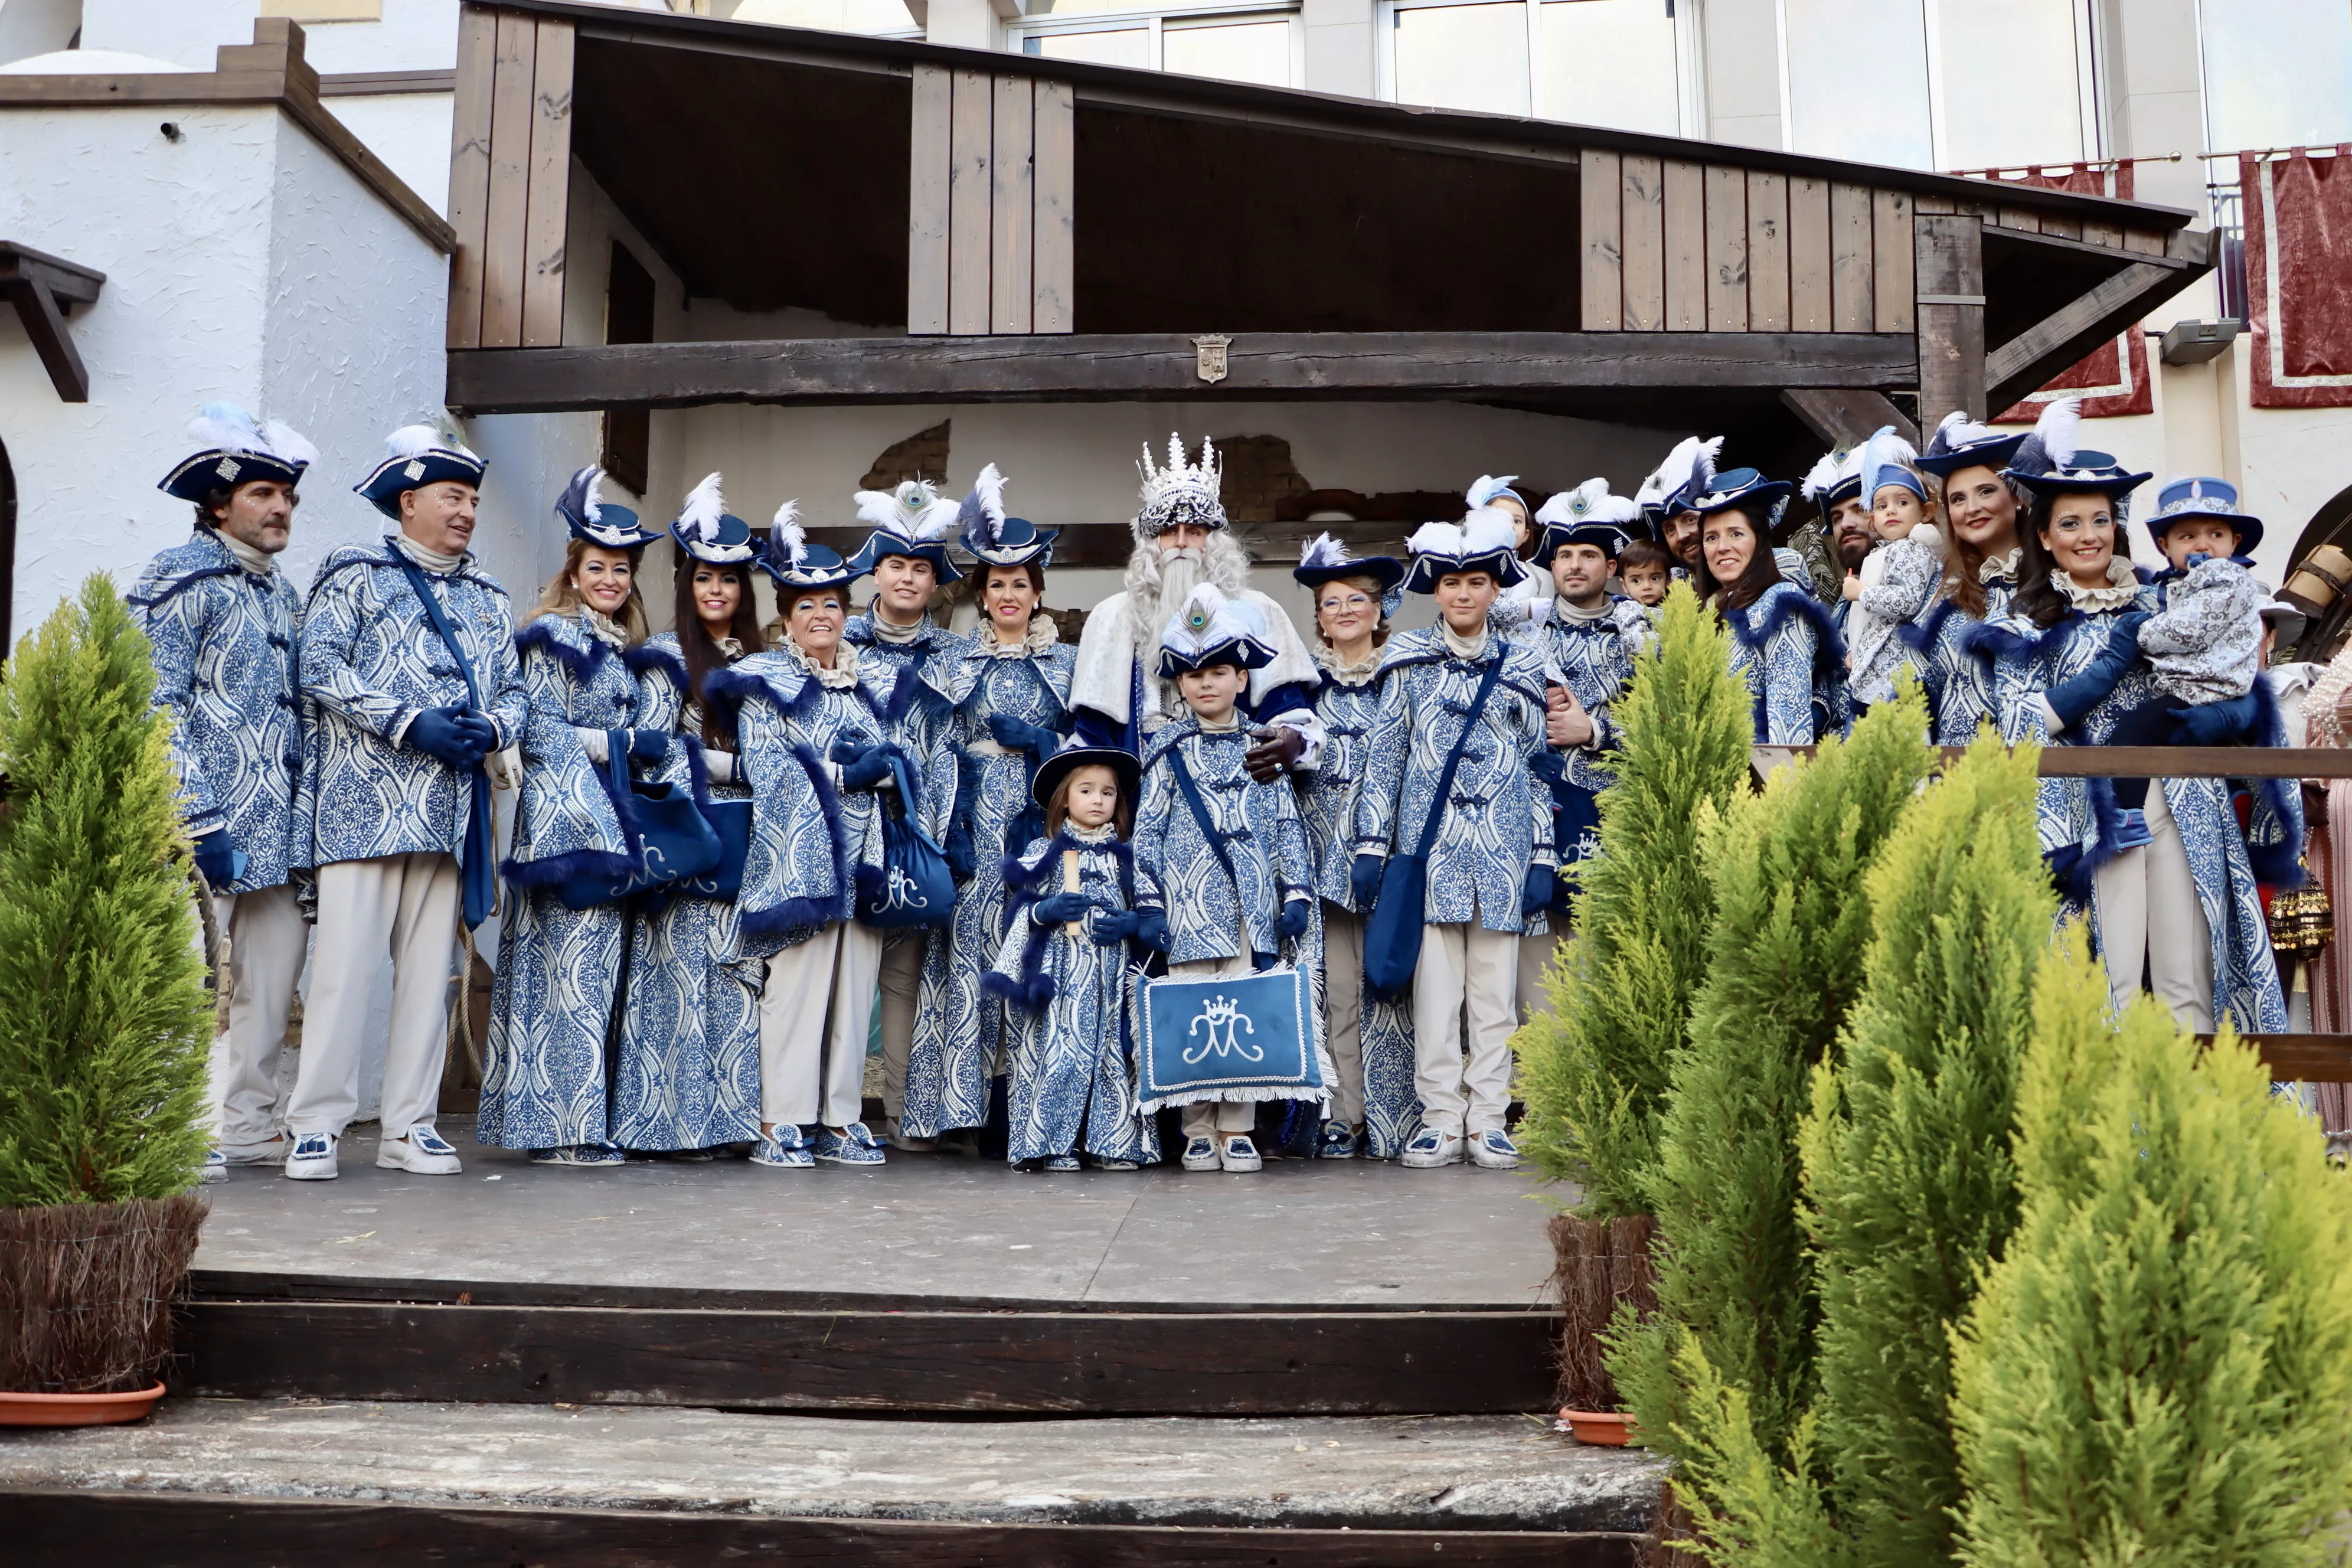
[[1385,0],[1383,9],[1383,96],[1397,103],[1684,129],[1682,82],[1693,73],[1668,0]]

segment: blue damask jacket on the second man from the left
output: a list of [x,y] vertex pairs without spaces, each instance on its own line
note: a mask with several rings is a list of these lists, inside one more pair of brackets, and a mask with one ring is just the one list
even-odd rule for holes
[[[454,856],[466,842],[473,785],[447,762],[402,745],[426,708],[461,708],[466,677],[409,588],[386,536],[343,545],[318,569],[303,611],[301,693],[308,710],[303,788],[315,799],[318,865],[405,853]],[[423,571],[423,569],[419,569]],[[466,555],[423,571],[499,731],[522,738],[529,703],[506,590]]]

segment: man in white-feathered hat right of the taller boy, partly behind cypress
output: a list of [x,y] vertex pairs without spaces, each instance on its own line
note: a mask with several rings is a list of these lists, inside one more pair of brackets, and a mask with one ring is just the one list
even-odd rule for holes
[[[1529,931],[1519,936],[1519,1023],[1545,1004],[1543,976],[1569,929],[1576,865],[1599,846],[1602,813],[1595,802],[1616,783],[1602,762],[1618,745],[1609,708],[1632,684],[1632,661],[1653,637],[1642,607],[1609,592],[1609,574],[1639,520],[1642,508],[1632,496],[1611,496],[1609,480],[1585,480],[1536,512],[1543,534],[1531,564],[1552,599],[1517,642],[1543,661],[1548,755],[1536,766],[1552,792],[1559,877],[1543,919],[1529,919]],[[1538,924],[1545,929],[1536,931]]]

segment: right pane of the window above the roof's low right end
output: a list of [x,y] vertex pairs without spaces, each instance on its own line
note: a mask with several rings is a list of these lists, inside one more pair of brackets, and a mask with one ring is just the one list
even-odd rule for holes
[[2089,158],[2077,0],[1943,5],[1943,155],[1952,169]]

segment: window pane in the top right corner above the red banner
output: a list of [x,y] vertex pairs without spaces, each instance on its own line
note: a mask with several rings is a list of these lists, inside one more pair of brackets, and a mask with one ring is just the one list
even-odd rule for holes
[[2211,150],[2352,141],[2345,0],[2206,0],[2204,52]]

